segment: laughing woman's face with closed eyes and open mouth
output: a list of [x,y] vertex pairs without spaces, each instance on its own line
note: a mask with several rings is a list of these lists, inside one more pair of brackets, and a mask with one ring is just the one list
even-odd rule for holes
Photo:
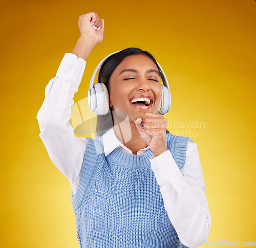
[[144,112],[156,113],[162,94],[156,64],[144,54],[126,57],[110,77],[109,93],[113,114],[121,119],[122,112],[131,122]]

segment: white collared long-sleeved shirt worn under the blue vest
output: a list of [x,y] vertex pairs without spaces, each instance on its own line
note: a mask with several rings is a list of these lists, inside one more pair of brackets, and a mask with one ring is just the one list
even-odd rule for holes
[[[72,53],[65,54],[56,77],[46,86],[45,100],[36,117],[40,128],[39,137],[51,161],[69,179],[74,194],[87,139],[75,136],[69,120],[74,94],[78,91],[85,66],[86,61],[82,58]],[[117,139],[113,128],[103,134],[103,147],[105,155],[116,148],[133,154]],[[148,148],[139,150],[137,154],[142,154]],[[150,161],[165,210],[179,239],[188,247],[199,246],[209,235],[211,216],[197,144],[188,142],[185,165],[181,171],[169,150],[151,157]]]

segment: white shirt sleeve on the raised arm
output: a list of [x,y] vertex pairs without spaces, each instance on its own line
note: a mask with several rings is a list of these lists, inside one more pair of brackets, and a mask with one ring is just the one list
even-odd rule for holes
[[75,54],[66,53],[59,65],[56,77],[45,89],[45,99],[37,113],[39,137],[44,143],[51,161],[65,174],[75,194],[84,152],[85,138],[77,138],[69,123],[74,94],[78,91],[86,61]]

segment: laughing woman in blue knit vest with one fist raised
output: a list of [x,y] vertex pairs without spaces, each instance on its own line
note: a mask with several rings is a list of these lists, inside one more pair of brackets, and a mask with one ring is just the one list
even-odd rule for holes
[[93,140],[75,137],[70,109],[104,20],[90,12],[78,25],[81,36],[47,85],[37,120],[52,162],[71,182],[80,247],[202,244],[211,217],[197,145],[166,133],[157,114],[161,73],[151,54],[130,48],[103,63],[109,114],[98,116]]

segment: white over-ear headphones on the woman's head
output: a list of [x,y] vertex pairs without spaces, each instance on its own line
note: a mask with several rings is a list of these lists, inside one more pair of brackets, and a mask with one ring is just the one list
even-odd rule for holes
[[[122,51],[122,50],[120,50]],[[114,52],[105,58],[103,58],[99,64],[97,65],[96,69],[94,70],[94,73],[92,75],[90,85],[89,85],[89,91],[88,91],[88,102],[89,102],[89,107],[90,109],[97,115],[106,115],[110,111],[109,106],[110,106],[110,97],[109,97],[109,92],[108,89],[106,88],[106,85],[104,83],[96,83],[93,85],[96,74],[98,70],[101,67],[101,64],[110,56],[113,54],[119,53],[120,51]],[[157,62],[159,69],[160,69],[160,76],[163,81],[162,87],[162,96],[161,96],[161,101],[157,110],[157,114],[164,115],[170,110],[170,103],[171,103],[171,98],[170,98],[170,90],[169,90],[169,85],[167,78],[163,72],[162,67],[160,64]]]

